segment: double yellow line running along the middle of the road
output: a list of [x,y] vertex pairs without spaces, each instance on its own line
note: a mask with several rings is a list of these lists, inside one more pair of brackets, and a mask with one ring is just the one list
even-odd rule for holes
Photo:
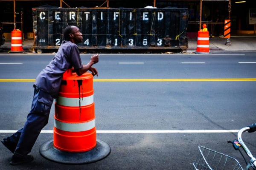
[[[221,82],[221,81],[256,81],[256,78],[226,79],[93,79],[93,82]],[[35,79],[0,79],[0,82],[35,82]]]

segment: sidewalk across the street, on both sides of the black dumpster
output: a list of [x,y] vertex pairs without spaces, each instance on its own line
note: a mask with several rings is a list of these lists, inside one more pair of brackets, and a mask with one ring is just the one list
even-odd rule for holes
[[[219,37],[212,37],[209,38],[209,47],[210,51],[256,51],[256,35],[251,36],[231,36],[230,37],[230,44],[225,45],[227,39],[219,38]],[[196,38],[189,38],[188,39],[189,48],[187,51],[194,52],[196,51],[197,47],[197,39]],[[33,39],[25,39],[23,40],[23,50],[29,51],[33,45]],[[1,45],[1,50],[10,51],[11,50],[11,40],[6,39],[5,44]]]

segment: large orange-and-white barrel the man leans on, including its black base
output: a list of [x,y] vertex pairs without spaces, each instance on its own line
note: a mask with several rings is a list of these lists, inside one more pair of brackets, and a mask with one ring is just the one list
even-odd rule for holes
[[110,153],[105,142],[96,139],[93,75],[77,76],[68,69],[55,100],[53,140],[41,145],[45,158],[64,164],[99,161]]

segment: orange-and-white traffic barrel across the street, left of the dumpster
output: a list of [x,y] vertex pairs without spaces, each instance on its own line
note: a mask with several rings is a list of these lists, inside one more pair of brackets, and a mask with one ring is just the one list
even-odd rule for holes
[[22,31],[14,29],[12,31],[11,52],[23,52]]

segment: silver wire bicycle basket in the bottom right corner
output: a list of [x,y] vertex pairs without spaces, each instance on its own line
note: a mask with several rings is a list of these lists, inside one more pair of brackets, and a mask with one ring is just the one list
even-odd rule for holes
[[235,158],[198,146],[199,154],[193,165],[195,170],[243,170]]

